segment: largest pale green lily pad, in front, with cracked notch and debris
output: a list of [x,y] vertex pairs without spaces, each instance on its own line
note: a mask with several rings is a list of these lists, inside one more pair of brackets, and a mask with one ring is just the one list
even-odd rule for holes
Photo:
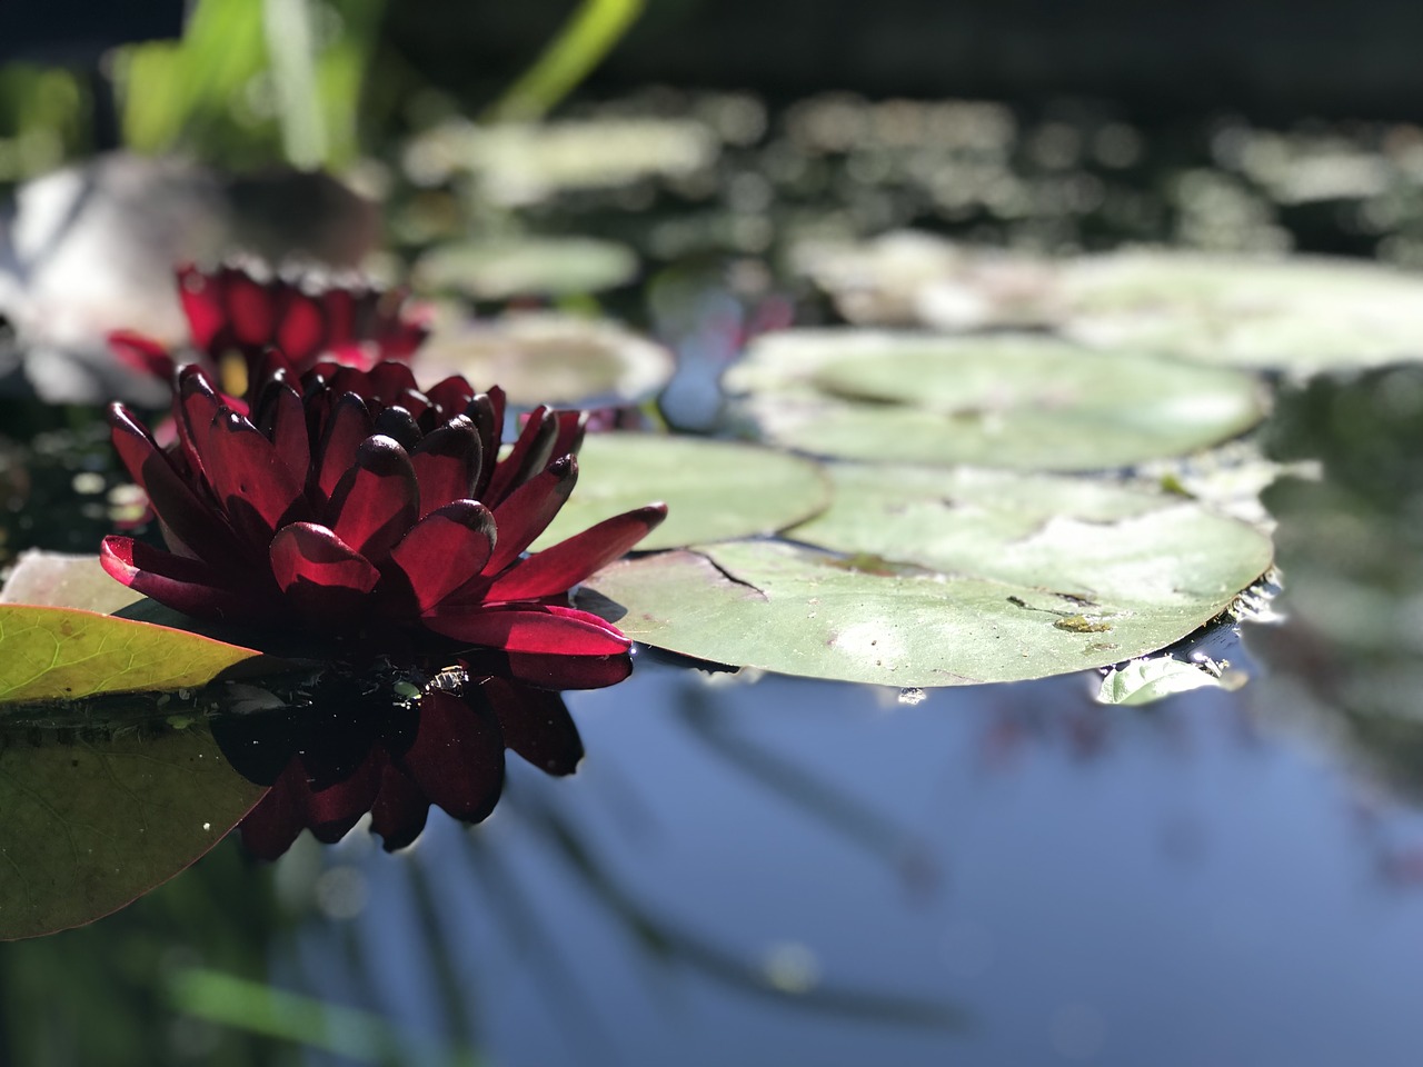
[[1220,615],[1271,561],[1251,526],[1094,482],[889,467],[835,482],[831,509],[791,536],[837,553],[702,545],[589,586],[626,610],[628,636],[683,654],[951,686],[1144,656]]

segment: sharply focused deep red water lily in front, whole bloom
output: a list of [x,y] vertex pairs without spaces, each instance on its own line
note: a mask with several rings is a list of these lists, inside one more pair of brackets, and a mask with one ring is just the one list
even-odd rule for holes
[[475,394],[461,377],[421,391],[388,361],[370,371],[323,361],[297,377],[269,353],[255,386],[249,418],[201,367],[184,367],[168,450],[122,404],[110,408],[118,454],[168,543],[105,538],[110,575],[198,619],[366,642],[428,630],[499,650],[552,686],[562,657],[628,652],[568,592],[662,522],[666,505],[525,555],[573,489],[579,413],[538,408],[497,460],[504,394]]

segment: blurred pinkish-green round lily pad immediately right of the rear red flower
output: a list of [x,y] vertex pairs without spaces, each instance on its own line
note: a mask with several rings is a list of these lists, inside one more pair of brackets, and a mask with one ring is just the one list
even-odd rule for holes
[[672,353],[616,323],[562,314],[509,314],[437,331],[420,364],[425,377],[462,374],[525,405],[636,401],[675,368]]

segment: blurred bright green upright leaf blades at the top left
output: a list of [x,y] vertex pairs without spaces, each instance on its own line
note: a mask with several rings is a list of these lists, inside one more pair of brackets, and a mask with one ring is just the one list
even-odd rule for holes
[[[583,0],[485,118],[536,120],[602,61],[645,0]],[[118,135],[144,154],[184,152],[226,168],[286,162],[349,166],[363,129],[401,104],[371,92],[384,0],[198,0],[182,40],[117,48]],[[398,64],[397,64],[398,65]],[[413,78],[413,83],[411,83]],[[417,71],[397,83],[417,88]],[[0,182],[18,182],[95,148],[98,77],[63,67],[0,65]]]

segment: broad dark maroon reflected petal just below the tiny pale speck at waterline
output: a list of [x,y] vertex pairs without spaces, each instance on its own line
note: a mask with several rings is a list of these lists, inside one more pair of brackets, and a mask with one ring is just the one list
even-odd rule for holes
[[430,690],[420,699],[420,731],[398,765],[450,815],[478,822],[504,790],[504,733],[482,700]]

